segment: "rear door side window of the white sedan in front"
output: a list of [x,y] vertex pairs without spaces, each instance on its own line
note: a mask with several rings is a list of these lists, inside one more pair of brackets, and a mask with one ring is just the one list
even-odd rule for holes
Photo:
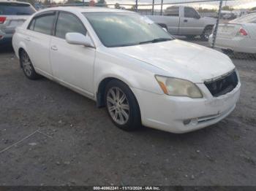
[[54,19],[55,19],[55,14],[36,17],[35,23],[34,23],[34,31],[37,31],[42,34],[50,35],[53,27]]

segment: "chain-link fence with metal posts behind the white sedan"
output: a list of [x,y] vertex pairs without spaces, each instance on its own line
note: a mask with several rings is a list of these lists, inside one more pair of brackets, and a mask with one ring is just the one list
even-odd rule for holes
[[130,4],[107,4],[104,0],[69,2],[56,4],[49,1],[48,5],[41,4],[39,9],[56,6],[127,9],[146,15],[178,39],[215,48],[233,58],[256,61],[254,0],[151,0],[151,3],[135,0]]

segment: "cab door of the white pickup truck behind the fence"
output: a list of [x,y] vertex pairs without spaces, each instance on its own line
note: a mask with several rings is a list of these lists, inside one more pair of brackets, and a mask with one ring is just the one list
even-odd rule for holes
[[203,33],[204,22],[192,7],[184,7],[179,28],[180,35],[200,35]]

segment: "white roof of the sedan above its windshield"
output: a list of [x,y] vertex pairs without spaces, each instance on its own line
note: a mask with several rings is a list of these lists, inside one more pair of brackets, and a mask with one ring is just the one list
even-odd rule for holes
[[123,12],[123,13],[135,13],[132,11],[127,11],[124,9],[112,9],[107,7],[51,7],[47,9],[42,9],[40,12],[45,11],[53,11],[53,10],[62,10],[62,11],[69,11],[69,12]]

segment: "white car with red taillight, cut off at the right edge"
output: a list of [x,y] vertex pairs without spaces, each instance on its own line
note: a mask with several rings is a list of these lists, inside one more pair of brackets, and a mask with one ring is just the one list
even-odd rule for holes
[[[212,42],[213,34],[209,38],[209,43]],[[256,54],[256,13],[219,24],[215,47],[223,52]]]

